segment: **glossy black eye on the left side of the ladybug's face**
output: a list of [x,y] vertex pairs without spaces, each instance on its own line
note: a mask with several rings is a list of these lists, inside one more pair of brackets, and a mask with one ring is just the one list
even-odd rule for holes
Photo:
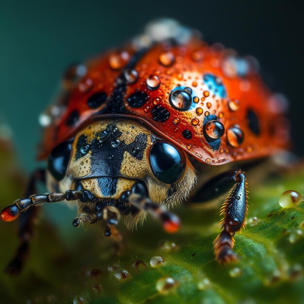
[[57,181],[61,181],[66,175],[71,151],[71,142],[65,141],[59,144],[49,156],[48,170]]

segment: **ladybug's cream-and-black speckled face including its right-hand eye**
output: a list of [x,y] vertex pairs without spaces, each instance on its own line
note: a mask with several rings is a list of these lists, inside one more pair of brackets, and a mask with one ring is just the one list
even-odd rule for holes
[[98,198],[119,199],[140,181],[153,202],[176,201],[195,183],[185,152],[131,120],[94,122],[71,147],[66,175]]

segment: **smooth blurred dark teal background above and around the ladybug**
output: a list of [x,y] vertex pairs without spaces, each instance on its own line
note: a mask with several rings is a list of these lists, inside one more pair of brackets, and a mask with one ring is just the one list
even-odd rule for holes
[[69,63],[120,45],[149,20],[173,17],[213,42],[253,54],[290,101],[295,151],[303,154],[303,16],[300,1],[0,0],[0,122],[27,172],[34,169],[38,114]]

